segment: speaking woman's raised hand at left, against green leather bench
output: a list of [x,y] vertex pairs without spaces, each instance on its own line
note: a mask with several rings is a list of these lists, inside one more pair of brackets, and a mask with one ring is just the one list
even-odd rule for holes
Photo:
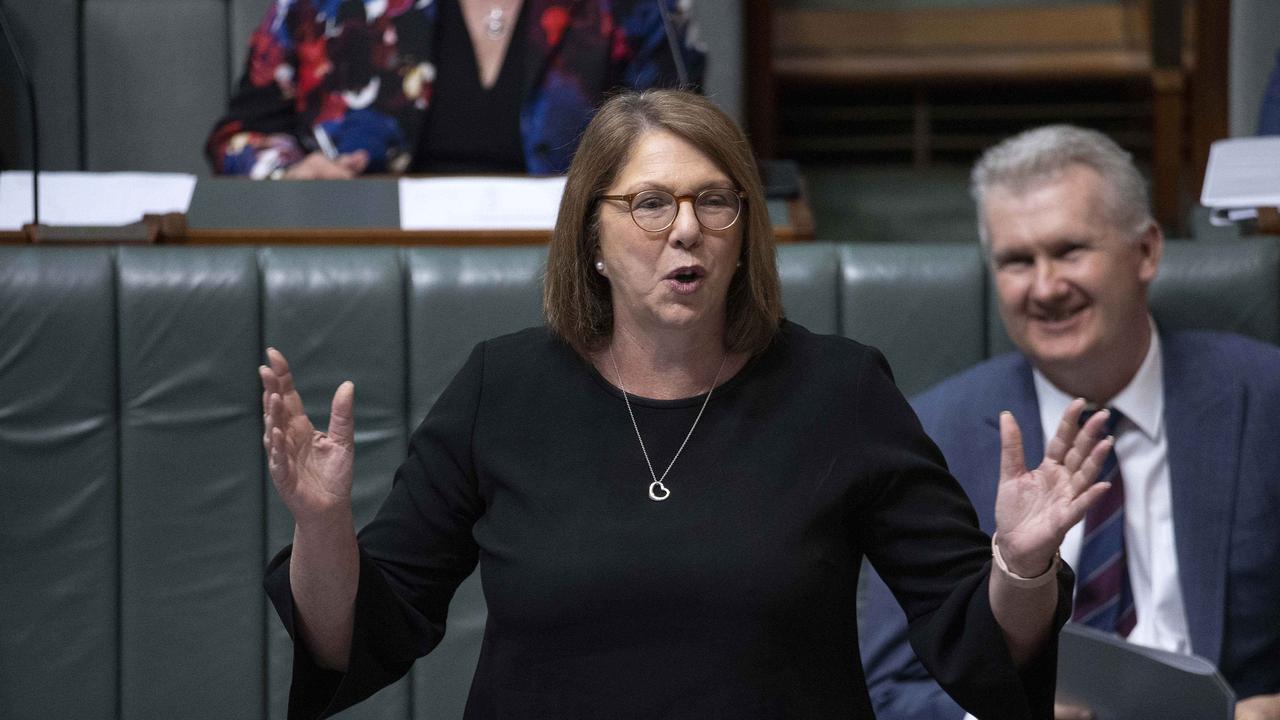
[[302,409],[284,355],[269,347],[266,360],[257,374],[262,379],[262,446],[275,492],[300,525],[324,521],[338,512],[349,516],[356,386],[351,380],[338,386],[329,432],[321,433]]

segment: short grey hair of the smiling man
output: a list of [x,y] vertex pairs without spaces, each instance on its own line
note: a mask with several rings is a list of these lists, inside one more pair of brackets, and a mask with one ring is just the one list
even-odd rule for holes
[[973,168],[969,192],[978,206],[978,237],[989,243],[983,200],[992,191],[1021,195],[1057,179],[1074,165],[1092,168],[1110,184],[1102,202],[1111,223],[1137,240],[1152,223],[1147,181],[1133,156],[1098,131],[1076,126],[1043,126],[992,146]]

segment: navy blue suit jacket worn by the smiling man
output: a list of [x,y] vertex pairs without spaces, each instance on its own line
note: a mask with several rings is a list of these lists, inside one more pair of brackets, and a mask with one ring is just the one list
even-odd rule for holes
[[[1162,333],[1165,427],[1178,573],[1192,652],[1245,698],[1280,692],[1280,348],[1225,333]],[[993,357],[913,405],[982,528],[995,530],[1001,410],[1023,430],[1027,466],[1043,459],[1030,364]],[[960,717],[906,641],[905,618],[869,573],[863,666],[877,714]]]

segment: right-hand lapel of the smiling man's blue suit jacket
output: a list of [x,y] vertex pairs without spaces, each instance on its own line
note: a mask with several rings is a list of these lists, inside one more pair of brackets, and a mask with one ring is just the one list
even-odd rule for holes
[[1176,334],[1162,336],[1165,427],[1178,578],[1192,651],[1221,660],[1228,543],[1244,398],[1238,384],[1198,366]]

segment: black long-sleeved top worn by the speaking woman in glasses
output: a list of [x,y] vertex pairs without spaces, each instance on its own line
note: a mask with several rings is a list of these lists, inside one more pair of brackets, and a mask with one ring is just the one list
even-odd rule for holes
[[[659,473],[703,397],[632,397]],[[360,533],[351,665],[296,643],[291,716],[402,675],[479,561],[489,619],[467,716],[873,717],[863,556],[945,687],[984,717],[1048,717],[1056,646],[1019,673],[988,538],[883,357],[786,323],[707,406],[666,480],[621,392],[543,328],[481,343],[413,433]],[[292,628],[288,552],[268,589]],[[1060,577],[1057,623],[1069,609]]]

